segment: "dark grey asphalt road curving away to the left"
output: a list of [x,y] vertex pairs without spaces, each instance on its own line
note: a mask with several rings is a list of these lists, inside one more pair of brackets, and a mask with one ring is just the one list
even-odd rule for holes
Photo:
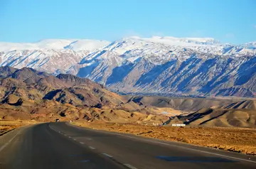
[[256,157],[65,123],[0,137],[0,168],[256,168]]

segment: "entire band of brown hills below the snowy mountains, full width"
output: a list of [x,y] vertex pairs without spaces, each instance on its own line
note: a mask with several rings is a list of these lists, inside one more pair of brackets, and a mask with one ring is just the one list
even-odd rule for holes
[[121,96],[75,75],[0,67],[0,119],[5,120],[255,127],[255,109],[255,99]]

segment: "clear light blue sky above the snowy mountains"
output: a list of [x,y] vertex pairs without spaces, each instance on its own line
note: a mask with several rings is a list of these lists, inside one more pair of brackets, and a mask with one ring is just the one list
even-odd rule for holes
[[0,0],[0,41],[124,36],[256,41],[256,1]]

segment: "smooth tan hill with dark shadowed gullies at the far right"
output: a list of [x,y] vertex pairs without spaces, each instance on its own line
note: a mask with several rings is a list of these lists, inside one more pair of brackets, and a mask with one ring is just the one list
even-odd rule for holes
[[201,108],[171,118],[167,125],[256,127],[256,100],[242,100],[223,106]]

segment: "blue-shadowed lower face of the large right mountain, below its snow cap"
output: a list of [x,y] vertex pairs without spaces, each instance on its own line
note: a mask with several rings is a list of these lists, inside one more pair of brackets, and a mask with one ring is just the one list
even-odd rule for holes
[[[109,69],[112,65],[102,60],[100,62],[104,65],[99,63],[97,67],[92,67],[92,73],[86,77],[96,82],[101,80],[108,88],[124,93],[256,96],[256,56],[228,58],[215,55],[201,58],[203,55],[206,54],[201,53],[186,60],[171,58],[157,64],[146,58],[112,70]],[[105,68],[101,70],[100,67]],[[82,76],[81,73],[79,75]]]

